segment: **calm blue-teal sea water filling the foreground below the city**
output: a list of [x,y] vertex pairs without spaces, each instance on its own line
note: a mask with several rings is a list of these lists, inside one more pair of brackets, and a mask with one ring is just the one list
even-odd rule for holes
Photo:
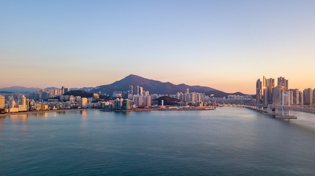
[[314,175],[315,115],[244,108],[0,117],[0,175]]

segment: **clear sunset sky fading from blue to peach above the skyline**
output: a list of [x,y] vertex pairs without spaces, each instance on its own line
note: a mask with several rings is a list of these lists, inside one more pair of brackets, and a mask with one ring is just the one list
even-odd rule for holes
[[[254,94],[315,88],[315,1],[0,0],[0,88],[144,78]],[[277,81],[275,82],[277,84]]]

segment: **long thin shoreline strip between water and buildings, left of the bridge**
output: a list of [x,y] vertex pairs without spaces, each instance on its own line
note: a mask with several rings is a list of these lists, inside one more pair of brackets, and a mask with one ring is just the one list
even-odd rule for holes
[[83,110],[100,110],[108,112],[140,112],[140,111],[191,111],[191,110],[215,110],[215,108],[152,108],[152,109],[130,109],[130,110],[104,110],[104,109],[60,109],[60,110],[46,110],[46,111],[24,111],[0,114],[0,117],[12,116],[12,115],[25,115],[25,114],[39,114],[46,112],[69,112],[69,111],[83,111]]

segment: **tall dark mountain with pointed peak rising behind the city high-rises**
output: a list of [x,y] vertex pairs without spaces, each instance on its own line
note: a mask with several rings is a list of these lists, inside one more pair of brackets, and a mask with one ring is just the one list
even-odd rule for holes
[[106,93],[112,95],[114,91],[127,91],[129,90],[129,86],[132,85],[133,88],[135,86],[143,87],[143,90],[148,90],[150,94],[176,94],[177,92],[186,92],[186,89],[189,89],[189,92],[199,92],[205,93],[207,91],[216,90],[210,87],[202,87],[202,86],[189,86],[186,84],[175,85],[170,82],[163,83],[161,81],[155,81],[151,79],[142,78],[137,75],[129,75],[123,78],[120,81],[116,81],[112,84],[98,86],[98,88],[93,89],[90,92],[98,93]]

